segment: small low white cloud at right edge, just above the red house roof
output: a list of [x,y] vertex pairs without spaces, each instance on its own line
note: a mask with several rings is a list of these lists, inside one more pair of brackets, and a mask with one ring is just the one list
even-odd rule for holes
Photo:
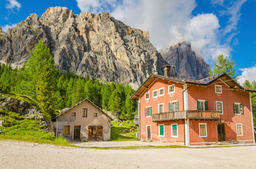
[[242,71],[242,74],[238,77],[238,81],[242,84],[245,80],[252,82],[256,80],[256,65],[250,68],[239,69]]

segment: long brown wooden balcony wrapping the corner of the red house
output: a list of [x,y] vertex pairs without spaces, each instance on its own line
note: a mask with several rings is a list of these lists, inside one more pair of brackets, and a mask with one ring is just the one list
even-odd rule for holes
[[218,121],[220,119],[220,112],[211,110],[184,110],[179,112],[164,112],[152,115],[153,122],[179,121],[181,119]]

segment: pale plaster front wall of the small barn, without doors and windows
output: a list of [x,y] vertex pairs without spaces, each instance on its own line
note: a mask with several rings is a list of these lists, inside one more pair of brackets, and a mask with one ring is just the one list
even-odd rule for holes
[[[87,117],[82,117],[82,109],[87,108]],[[71,112],[76,112],[76,117],[71,117]],[[97,113],[97,117],[93,117],[93,113]],[[74,126],[81,126],[81,140],[88,140],[88,126],[103,126],[103,139],[110,139],[110,119],[106,117],[101,111],[99,111],[94,105],[89,103],[89,101],[83,101],[79,105],[75,106],[66,113],[60,115],[54,124],[54,129],[56,131],[58,121],[58,134],[64,133],[64,126],[70,126],[70,135],[72,135],[73,140],[73,130]]]

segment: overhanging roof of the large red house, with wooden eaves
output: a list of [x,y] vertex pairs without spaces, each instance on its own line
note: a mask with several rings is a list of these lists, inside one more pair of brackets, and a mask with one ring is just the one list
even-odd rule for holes
[[134,92],[134,94],[130,97],[131,100],[138,100],[140,95],[149,88],[150,84],[152,84],[156,79],[163,79],[164,81],[173,81],[180,84],[196,84],[201,86],[209,86],[210,84],[218,84],[212,83],[218,79],[225,83],[229,89],[231,90],[242,90],[242,91],[249,91],[249,92],[256,92],[256,90],[244,88],[239,83],[235,81],[235,79],[231,78],[227,73],[222,73],[218,75],[214,75],[211,77],[207,77],[204,79],[194,80],[194,79],[185,79],[185,78],[177,78],[177,77],[168,77],[164,75],[152,74],[148,77],[144,83]]

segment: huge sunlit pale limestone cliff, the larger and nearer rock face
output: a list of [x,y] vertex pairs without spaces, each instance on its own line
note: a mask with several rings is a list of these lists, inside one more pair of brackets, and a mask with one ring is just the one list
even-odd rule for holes
[[42,38],[58,69],[102,81],[141,84],[150,74],[163,74],[166,61],[149,41],[109,13],[80,15],[50,7],[39,19],[31,14],[0,37],[0,61],[21,66]]

